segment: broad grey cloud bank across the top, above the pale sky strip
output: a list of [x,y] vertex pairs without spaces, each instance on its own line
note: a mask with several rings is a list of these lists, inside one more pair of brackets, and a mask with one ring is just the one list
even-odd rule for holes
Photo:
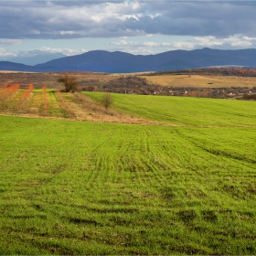
[[[10,3],[12,2],[12,3]],[[0,1],[2,38],[256,36],[254,1]]]

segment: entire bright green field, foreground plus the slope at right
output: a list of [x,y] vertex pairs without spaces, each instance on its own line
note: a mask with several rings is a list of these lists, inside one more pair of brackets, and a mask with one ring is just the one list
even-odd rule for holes
[[113,97],[162,125],[0,116],[0,254],[256,254],[255,101]]

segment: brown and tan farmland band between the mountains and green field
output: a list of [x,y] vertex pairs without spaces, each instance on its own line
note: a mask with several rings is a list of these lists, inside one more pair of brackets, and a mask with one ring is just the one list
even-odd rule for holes
[[[23,90],[26,90],[29,84],[33,84],[34,89],[38,90],[44,86],[58,90],[61,89],[61,84],[57,81],[59,74],[58,72],[0,72],[0,80],[2,86],[19,83],[20,89]],[[69,72],[69,74],[75,75],[81,91],[256,99],[254,69],[192,69],[184,73],[173,71],[132,74]]]

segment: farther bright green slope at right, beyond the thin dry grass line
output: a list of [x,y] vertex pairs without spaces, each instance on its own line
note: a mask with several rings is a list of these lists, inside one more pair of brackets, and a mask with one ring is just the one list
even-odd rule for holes
[[[102,93],[86,92],[100,101]],[[112,94],[113,108],[156,122],[185,126],[256,127],[256,101]]]

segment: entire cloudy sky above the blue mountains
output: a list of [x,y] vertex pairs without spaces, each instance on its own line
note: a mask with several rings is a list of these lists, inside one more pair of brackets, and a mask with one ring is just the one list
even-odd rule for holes
[[0,0],[0,59],[256,48],[254,1]]

